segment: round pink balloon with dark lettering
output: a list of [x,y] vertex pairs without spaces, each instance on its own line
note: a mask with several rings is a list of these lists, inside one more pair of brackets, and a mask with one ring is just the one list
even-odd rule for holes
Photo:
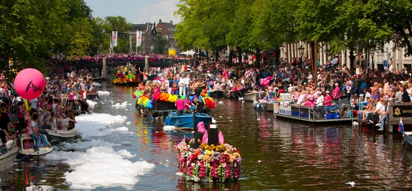
[[17,94],[28,100],[39,97],[45,90],[45,86],[45,77],[34,68],[20,71],[14,79],[14,88],[16,88]]

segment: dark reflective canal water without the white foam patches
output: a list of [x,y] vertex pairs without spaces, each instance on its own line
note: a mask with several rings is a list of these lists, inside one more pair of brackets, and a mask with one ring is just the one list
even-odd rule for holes
[[[154,170],[139,177],[134,190],[411,190],[412,148],[402,147],[400,133],[332,124],[314,127],[278,120],[270,113],[257,113],[253,103],[227,99],[216,104],[212,115],[225,141],[242,155],[242,177],[234,183],[192,183],[176,176],[174,146],[192,131],[163,131],[161,120],[144,118],[135,109],[133,88],[104,84],[110,97],[103,97],[94,112],[127,116],[127,136],[102,138],[112,142],[129,141],[127,149],[137,160],[156,164]],[[106,101],[104,101],[106,100]],[[114,103],[128,101],[126,108],[113,108]],[[117,140],[117,139],[122,140]],[[25,162],[15,162],[0,171],[2,190],[23,190]],[[68,190],[62,179],[69,167],[43,159],[27,164],[35,179]],[[23,171],[21,171],[23,170]],[[98,178],[98,177],[96,177]],[[354,181],[355,187],[346,184]],[[122,187],[97,190],[124,190]]]

